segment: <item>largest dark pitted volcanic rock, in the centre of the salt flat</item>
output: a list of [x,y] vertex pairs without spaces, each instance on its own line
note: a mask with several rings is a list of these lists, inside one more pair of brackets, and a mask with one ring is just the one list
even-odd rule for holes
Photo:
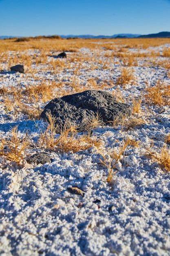
[[41,113],[41,118],[48,121],[46,114],[50,112],[56,117],[56,123],[59,125],[67,119],[72,124],[84,127],[87,120],[95,117],[97,113],[106,125],[115,118],[120,120],[123,116],[129,117],[132,107],[117,102],[109,92],[87,90],[51,100]]

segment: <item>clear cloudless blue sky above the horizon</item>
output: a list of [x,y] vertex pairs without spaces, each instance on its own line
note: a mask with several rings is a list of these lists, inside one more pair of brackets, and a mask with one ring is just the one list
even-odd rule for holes
[[170,31],[170,0],[0,0],[0,36]]

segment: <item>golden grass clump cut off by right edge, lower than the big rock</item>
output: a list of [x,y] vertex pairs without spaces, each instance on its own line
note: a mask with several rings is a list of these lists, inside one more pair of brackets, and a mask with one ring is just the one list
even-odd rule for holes
[[170,148],[167,145],[160,147],[158,152],[152,152],[148,149],[146,155],[170,171]]

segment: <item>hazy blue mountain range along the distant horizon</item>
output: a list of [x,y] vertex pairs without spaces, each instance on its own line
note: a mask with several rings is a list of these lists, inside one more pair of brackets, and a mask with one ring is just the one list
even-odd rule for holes
[[[157,34],[148,34],[148,35],[140,35],[140,34],[114,34],[113,36],[93,36],[93,35],[60,35],[62,38],[159,38],[159,37],[169,37],[170,38],[170,32],[163,31],[159,32]],[[7,38],[20,38],[21,36],[0,36],[0,39],[7,39]]]

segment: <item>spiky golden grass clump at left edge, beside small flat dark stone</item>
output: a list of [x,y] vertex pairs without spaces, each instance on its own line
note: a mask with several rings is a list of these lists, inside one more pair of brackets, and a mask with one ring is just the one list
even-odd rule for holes
[[21,138],[18,132],[18,126],[14,126],[10,130],[10,135],[7,139],[0,141],[0,155],[5,156],[7,160],[14,161],[20,164],[23,158],[23,153],[26,148],[31,144],[31,138],[26,132],[25,137]]

